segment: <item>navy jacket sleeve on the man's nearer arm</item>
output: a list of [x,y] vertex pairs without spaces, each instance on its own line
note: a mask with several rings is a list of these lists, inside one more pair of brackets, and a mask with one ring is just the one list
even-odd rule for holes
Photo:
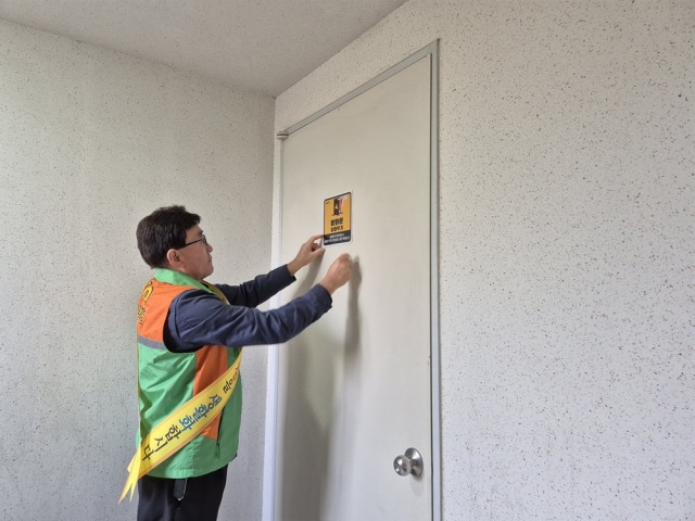
[[[255,302],[255,296],[250,297],[250,294],[245,294],[244,302]],[[319,284],[267,312],[226,305],[203,290],[190,290],[172,303],[164,342],[175,353],[193,352],[204,345],[242,347],[287,342],[318,320],[331,305],[330,293]]]

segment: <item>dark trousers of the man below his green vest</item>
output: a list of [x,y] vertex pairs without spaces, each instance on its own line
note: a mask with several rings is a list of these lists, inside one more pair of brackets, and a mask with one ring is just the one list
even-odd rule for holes
[[143,475],[138,482],[138,521],[216,521],[227,466],[182,480]]

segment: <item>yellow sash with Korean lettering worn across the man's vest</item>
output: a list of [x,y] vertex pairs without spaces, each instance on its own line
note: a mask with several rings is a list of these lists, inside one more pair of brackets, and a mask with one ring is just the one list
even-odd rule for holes
[[[205,285],[228,304],[227,298],[216,287]],[[184,448],[222,412],[237,386],[240,365],[241,352],[231,367],[217,380],[167,416],[144,436],[128,465],[128,479],[118,503],[126,497],[128,491],[132,500],[132,494],[140,478]]]

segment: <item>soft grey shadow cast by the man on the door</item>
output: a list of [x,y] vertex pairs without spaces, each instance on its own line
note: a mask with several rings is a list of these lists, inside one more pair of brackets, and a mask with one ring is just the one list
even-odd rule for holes
[[[319,263],[309,267],[293,295],[316,283]],[[325,517],[331,491],[331,466],[344,465],[353,454],[352,440],[342,439],[337,424],[352,422],[358,404],[342,402],[345,386],[359,389],[359,313],[362,275],[355,262],[349,282],[344,331],[312,326],[312,334],[291,340],[288,353],[285,424],[281,430],[282,498],[280,519],[311,521]],[[339,290],[345,291],[345,289]],[[330,312],[329,312],[330,313]],[[352,394],[355,396],[355,394]],[[341,418],[338,418],[341,417]],[[332,446],[340,445],[340,446]]]

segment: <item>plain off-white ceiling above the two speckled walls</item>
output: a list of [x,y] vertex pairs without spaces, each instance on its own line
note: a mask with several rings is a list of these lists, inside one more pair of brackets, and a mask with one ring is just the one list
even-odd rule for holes
[[0,0],[0,20],[276,97],[405,0]]

